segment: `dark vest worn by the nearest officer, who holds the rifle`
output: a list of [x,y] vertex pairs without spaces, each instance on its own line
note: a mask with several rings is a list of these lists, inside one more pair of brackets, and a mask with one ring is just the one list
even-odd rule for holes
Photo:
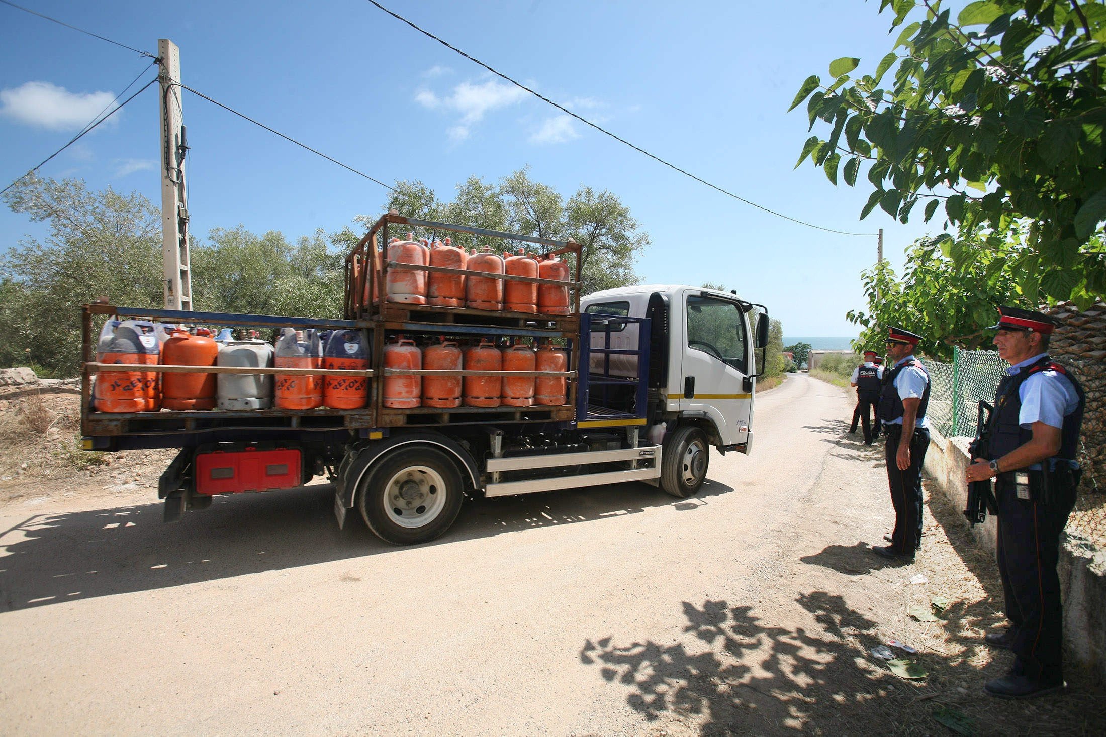
[[999,382],[999,390],[994,394],[994,413],[991,415],[990,434],[991,439],[987,445],[989,459],[1001,459],[1019,445],[1024,445],[1033,438],[1031,428],[1023,428],[1019,421],[1022,412],[1022,398],[1020,389],[1031,376],[1037,371],[1055,371],[1072,382],[1075,396],[1079,403],[1075,411],[1064,418],[1064,424],[1060,430],[1060,452],[1052,457],[1075,460],[1075,451],[1079,442],[1079,428],[1083,425],[1083,408],[1086,398],[1083,394],[1083,387],[1067,370],[1053,361],[1048,356],[1042,356],[1040,360],[1023,366],[1018,373],[1006,375]]

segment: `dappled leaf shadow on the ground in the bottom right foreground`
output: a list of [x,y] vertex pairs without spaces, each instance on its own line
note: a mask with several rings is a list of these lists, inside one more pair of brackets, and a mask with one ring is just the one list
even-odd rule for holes
[[899,678],[869,654],[881,642],[877,623],[841,596],[813,591],[795,602],[812,615],[811,627],[774,624],[748,606],[685,601],[679,639],[588,639],[580,659],[597,665],[627,705],[662,733],[675,723],[700,735],[951,734],[935,718],[950,712],[966,717],[974,735],[1102,734],[1106,726],[1102,716],[1088,717],[1094,705],[1087,699],[989,698],[979,668],[961,656],[909,656],[930,675]]

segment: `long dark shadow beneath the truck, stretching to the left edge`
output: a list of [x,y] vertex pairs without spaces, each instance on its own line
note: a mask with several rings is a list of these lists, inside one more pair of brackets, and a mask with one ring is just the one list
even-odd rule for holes
[[[425,545],[602,524],[654,507],[695,512],[731,491],[708,481],[693,499],[676,499],[628,483],[472,498],[444,537]],[[157,503],[31,515],[0,534],[0,612],[407,549],[380,541],[355,509],[338,529],[333,504],[333,487],[317,485],[218,496],[209,509],[171,525],[161,522]]]

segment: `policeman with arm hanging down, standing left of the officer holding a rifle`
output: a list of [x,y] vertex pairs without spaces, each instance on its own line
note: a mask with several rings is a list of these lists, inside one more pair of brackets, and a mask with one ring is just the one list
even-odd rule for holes
[[921,464],[929,449],[929,373],[914,356],[921,336],[888,328],[887,362],[879,394],[879,419],[887,432],[887,482],[895,507],[891,544],[873,547],[885,558],[912,561],[921,547]]

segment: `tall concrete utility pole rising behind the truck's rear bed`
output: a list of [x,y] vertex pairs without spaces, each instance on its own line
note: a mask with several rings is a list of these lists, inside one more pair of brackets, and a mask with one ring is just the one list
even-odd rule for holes
[[185,189],[184,110],[180,106],[180,50],[168,39],[158,39],[161,118],[161,256],[165,264],[165,308],[192,308],[192,277],[188,256],[188,202]]

